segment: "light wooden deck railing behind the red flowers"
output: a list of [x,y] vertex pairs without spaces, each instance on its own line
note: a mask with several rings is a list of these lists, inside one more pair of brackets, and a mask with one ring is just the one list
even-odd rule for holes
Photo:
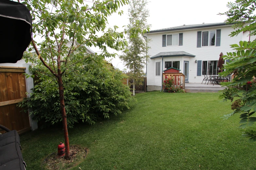
[[[182,73],[163,73],[163,81],[165,80],[165,77],[173,79],[173,88],[175,87],[181,87],[182,89],[185,89],[185,76]],[[163,83],[163,82],[162,82]]]

